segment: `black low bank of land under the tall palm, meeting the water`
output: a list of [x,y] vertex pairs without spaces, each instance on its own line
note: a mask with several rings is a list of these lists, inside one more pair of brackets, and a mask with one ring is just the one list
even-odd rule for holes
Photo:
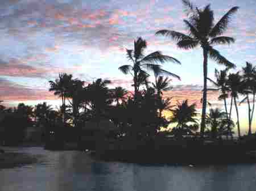
[[100,160],[139,164],[256,164],[256,148],[241,142],[204,145],[200,141],[149,141],[125,145],[104,143],[91,153]]

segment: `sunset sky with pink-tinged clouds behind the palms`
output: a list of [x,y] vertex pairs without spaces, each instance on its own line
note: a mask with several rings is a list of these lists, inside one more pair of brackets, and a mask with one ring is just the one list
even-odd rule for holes
[[[245,66],[246,61],[256,65],[256,1],[193,2],[199,7],[210,3],[215,22],[233,6],[239,6],[224,34],[234,37],[236,43],[215,48],[237,65],[234,71]],[[180,81],[172,80],[174,90],[165,96],[189,99],[200,109],[200,47],[181,50],[171,39],[155,36],[159,29],[187,32],[180,0],[1,0],[0,5],[0,99],[5,105],[43,101],[59,105],[57,97],[48,92],[48,80],[54,80],[59,73],[86,82],[110,79],[112,86],[130,89],[131,77],[118,67],[129,64],[125,49],[132,49],[134,39],[141,36],[147,40],[147,53],[160,50],[181,62],[164,63],[164,69],[181,77]],[[223,69],[209,61],[210,78],[214,78],[215,68]],[[216,92],[209,92],[209,100],[222,107]],[[240,108],[242,126],[246,126],[246,105]],[[256,120],[253,126],[256,130]]]

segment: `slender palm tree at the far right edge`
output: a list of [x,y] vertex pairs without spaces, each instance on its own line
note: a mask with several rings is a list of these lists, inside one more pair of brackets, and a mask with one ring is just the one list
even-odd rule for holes
[[248,135],[251,135],[251,122],[253,120],[253,111],[251,110],[249,94],[252,94],[253,91],[254,91],[254,87],[255,87],[255,85],[254,85],[254,83],[255,83],[254,73],[255,73],[255,70],[256,70],[255,67],[253,67],[253,65],[249,62],[246,62],[246,66],[242,67],[243,94],[245,94],[246,97],[240,102],[240,104],[243,103],[243,101],[245,101],[245,100],[247,101],[248,120],[249,120],[249,122],[248,122],[248,124],[249,124]]

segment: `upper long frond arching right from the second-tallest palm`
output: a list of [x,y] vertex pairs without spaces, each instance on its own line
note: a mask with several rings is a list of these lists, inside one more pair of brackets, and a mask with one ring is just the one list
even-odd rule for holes
[[180,64],[180,61],[178,61],[176,58],[163,55],[160,51],[156,51],[151,54],[148,54],[140,62],[163,63],[163,62],[167,62],[167,61],[171,61],[171,62]]

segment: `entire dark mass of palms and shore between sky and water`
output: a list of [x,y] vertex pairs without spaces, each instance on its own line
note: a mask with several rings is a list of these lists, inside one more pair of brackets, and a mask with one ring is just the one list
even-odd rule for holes
[[[187,0],[183,0],[183,4],[188,16],[184,20],[188,35],[167,29],[156,35],[170,37],[181,49],[196,46],[203,49],[200,121],[195,103],[189,100],[174,103],[171,97],[163,96],[164,92],[172,90],[172,78],[181,80],[179,75],[164,70],[163,63],[181,64],[180,61],[160,51],[145,55],[147,42],[138,37],[133,49],[126,49],[130,65],[119,67],[123,74],[133,79],[133,91],[110,88],[110,80],[97,79],[88,84],[74,79],[71,74],[61,73],[57,79],[49,81],[49,91],[61,99],[59,108],[54,110],[47,103],[35,107],[20,103],[14,108],[1,105],[2,145],[45,143],[49,150],[90,150],[100,159],[134,163],[255,163],[256,155],[252,151],[256,150],[256,136],[251,125],[256,67],[246,62],[241,71],[232,73],[236,65],[213,48],[234,43],[233,37],[222,35],[238,7],[232,7],[214,22],[210,5],[199,8]],[[208,78],[208,58],[225,67],[215,70],[216,79]],[[150,75],[154,77],[153,82]],[[208,81],[213,88],[208,87]],[[218,99],[224,102],[224,111],[212,107],[207,100],[208,91],[219,92]],[[243,97],[241,101],[238,96]],[[249,124],[248,134],[243,136],[238,111],[242,103],[248,106]],[[232,109],[236,109],[236,122]],[[165,111],[170,112],[170,116],[165,116]],[[168,130],[170,124],[174,128]],[[236,125],[237,140],[233,136]]]

